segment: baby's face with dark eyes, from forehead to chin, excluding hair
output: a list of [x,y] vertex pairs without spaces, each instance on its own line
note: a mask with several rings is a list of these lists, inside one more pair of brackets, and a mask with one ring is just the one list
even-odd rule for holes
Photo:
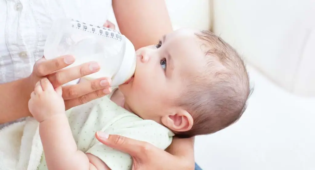
[[180,29],[137,50],[135,76],[119,86],[130,111],[159,123],[162,116],[175,113],[174,102],[185,90],[187,77],[201,72],[205,63],[195,33]]

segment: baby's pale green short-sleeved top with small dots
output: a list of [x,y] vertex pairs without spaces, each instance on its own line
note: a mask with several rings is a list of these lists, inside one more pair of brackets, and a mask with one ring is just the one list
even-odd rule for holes
[[[112,170],[130,170],[131,156],[100,143],[95,138],[96,131],[145,141],[163,150],[171,144],[172,131],[152,120],[143,120],[110,97],[111,94],[66,112],[78,150],[97,156]],[[38,170],[47,170],[44,154]]]

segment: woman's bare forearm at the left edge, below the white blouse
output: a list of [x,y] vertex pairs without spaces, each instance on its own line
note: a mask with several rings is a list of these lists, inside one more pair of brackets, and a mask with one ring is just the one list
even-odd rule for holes
[[28,79],[0,84],[0,124],[31,116],[28,100],[34,90]]

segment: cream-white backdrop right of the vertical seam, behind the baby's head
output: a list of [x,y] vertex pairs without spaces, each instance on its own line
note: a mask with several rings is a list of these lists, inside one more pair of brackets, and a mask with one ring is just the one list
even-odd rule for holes
[[289,92],[315,96],[314,0],[214,0],[214,32]]

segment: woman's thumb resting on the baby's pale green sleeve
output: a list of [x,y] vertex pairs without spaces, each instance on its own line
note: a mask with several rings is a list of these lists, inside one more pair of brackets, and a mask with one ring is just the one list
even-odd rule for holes
[[155,146],[147,142],[130,139],[120,135],[108,135],[104,132],[97,132],[95,137],[101,143],[111,148],[128,153],[131,156],[137,157],[141,160],[146,159],[148,155],[152,155],[150,153],[154,152],[156,149]]

